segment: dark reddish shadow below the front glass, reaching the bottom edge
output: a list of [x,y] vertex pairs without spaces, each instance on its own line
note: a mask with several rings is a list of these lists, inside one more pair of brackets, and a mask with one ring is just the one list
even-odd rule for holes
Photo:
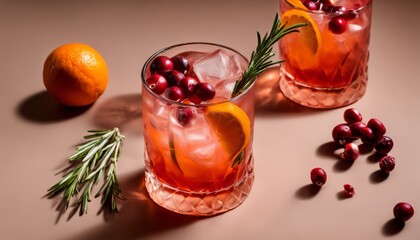
[[121,189],[127,198],[118,214],[104,215],[105,221],[89,231],[69,239],[139,239],[154,233],[182,227],[200,218],[188,217],[167,211],[149,197],[144,184],[144,170],[123,177]]

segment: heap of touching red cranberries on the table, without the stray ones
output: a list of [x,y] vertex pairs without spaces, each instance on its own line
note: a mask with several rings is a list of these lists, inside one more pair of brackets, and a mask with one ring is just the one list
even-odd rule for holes
[[334,141],[344,146],[341,157],[348,161],[355,161],[359,155],[359,146],[353,143],[353,140],[360,139],[367,148],[375,149],[381,156],[379,167],[385,173],[394,170],[395,158],[388,155],[394,147],[392,138],[385,136],[386,127],[378,119],[372,118],[367,124],[362,122],[362,114],[349,108],[344,111],[344,120],[346,123],[334,127],[332,137]]

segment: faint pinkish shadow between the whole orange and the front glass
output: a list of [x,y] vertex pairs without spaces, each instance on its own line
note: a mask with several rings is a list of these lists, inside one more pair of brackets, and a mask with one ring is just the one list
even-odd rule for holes
[[142,131],[141,94],[119,95],[98,104],[93,115],[98,128],[118,127],[122,132],[136,134]]

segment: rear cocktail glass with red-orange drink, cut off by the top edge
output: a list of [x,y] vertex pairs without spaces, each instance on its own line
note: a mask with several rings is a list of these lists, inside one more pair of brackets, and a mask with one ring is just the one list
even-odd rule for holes
[[363,97],[372,0],[280,0],[280,13],[283,23],[307,23],[279,41],[284,95],[311,108],[342,107]]

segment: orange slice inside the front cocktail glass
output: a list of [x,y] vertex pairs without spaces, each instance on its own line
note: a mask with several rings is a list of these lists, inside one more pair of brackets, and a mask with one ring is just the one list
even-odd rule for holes
[[237,105],[224,102],[206,108],[205,117],[231,161],[245,149],[250,140],[251,123]]

